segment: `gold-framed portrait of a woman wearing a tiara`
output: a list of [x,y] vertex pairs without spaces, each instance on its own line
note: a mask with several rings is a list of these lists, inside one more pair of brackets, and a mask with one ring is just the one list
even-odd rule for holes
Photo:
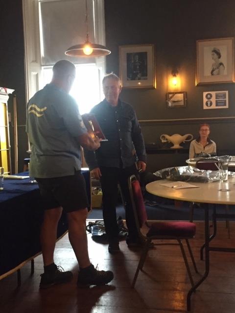
[[234,83],[234,38],[197,41],[196,85]]

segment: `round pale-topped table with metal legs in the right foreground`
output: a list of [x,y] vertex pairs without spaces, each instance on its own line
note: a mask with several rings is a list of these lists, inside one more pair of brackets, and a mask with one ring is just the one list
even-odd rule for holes
[[[235,178],[229,178],[224,182],[192,182],[192,185],[198,186],[198,188],[184,188],[175,189],[175,187],[165,187],[161,184],[169,184],[172,181],[169,180],[157,180],[152,181],[146,185],[146,190],[159,197],[164,197],[168,199],[189,201],[189,202],[199,202],[202,203],[202,208],[204,209],[205,215],[205,244],[201,247],[201,253],[203,248],[205,248],[205,272],[204,275],[199,279],[199,281],[188,291],[187,296],[187,308],[190,310],[191,306],[191,295],[192,293],[202,284],[202,282],[207,278],[210,271],[210,251],[225,251],[225,252],[235,252],[234,248],[224,248],[224,247],[210,247],[209,243],[216,234],[216,217],[234,217],[232,214],[216,214],[216,206],[213,206],[213,221],[214,221],[214,232],[210,236],[209,231],[209,203],[213,204],[235,204]],[[180,183],[175,182],[174,185],[179,185]],[[202,254],[201,254],[202,255]]]

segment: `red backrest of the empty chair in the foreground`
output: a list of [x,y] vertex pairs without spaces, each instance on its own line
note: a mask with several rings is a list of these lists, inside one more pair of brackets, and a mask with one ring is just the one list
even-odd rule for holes
[[147,213],[141,192],[141,185],[135,175],[130,176],[128,185],[135,221],[139,230],[139,228],[141,228],[147,221]]

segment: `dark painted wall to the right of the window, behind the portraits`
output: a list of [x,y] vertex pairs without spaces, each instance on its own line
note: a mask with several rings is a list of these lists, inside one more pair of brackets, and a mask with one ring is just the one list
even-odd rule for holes
[[[154,44],[156,53],[156,89],[123,89],[121,97],[131,103],[140,120],[208,118],[235,116],[235,85],[214,84],[195,86],[196,40],[235,36],[235,1],[225,0],[106,0],[107,71],[118,74],[118,46]],[[221,18],[222,17],[222,18]],[[187,91],[186,108],[167,108],[165,93],[167,75],[177,67]],[[229,109],[203,110],[203,91],[228,90]],[[145,142],[161,144],[161,134],[198,134],[200,121],[141,123]],[[219,153],[235,153],[234,120],[209,121],[211,138]],[[150,155],[151,171],[185,162],[187,155]]]

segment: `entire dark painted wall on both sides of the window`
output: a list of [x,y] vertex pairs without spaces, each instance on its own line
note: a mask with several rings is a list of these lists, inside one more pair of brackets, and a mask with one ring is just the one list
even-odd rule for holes
[[[16,90],[18,105],[19,170],[27,157],[24,86],[24,36],[21,0],[0,0],[0,86]],[[14,5],[13,5],[14,4]],[[123,89],[122,99],[131,103],[140,120],[235,116],[235,85],[195,86],[196,40],[235,35],[235,1],[212,0],[105,0],[107,70],[118,74],[118,46],[154,44],[156,89]],[[177,67],[187,91],[186,108],[166,107],[167,75]],[[229,109],[203,110],[202,92],[229,90]],[[12,97],[9,100],[12,113]],[[146,143],[160,144],[161,134],[197,135],[198,121],[141,123]],[[212,121],[211,138],[221,153],[235,154],[234,120]],[[21,126],[22,125],[22,126]],[[12,131],[12,126],[11,126]],[[11,135],[13,141],[13,134]],[[13,146],[13,142],[12,142]],[[149,170],[184,163],[187,155],[150,155]],[[163,161],[164,160],[164,161]]]

